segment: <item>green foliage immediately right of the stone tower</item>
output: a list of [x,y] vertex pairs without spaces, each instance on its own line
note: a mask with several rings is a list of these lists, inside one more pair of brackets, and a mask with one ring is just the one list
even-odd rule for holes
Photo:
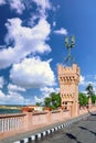
[[88,97],[85,94],[79,92],[78,101],[79,101],[79,106],[85,106],[88,103]]

